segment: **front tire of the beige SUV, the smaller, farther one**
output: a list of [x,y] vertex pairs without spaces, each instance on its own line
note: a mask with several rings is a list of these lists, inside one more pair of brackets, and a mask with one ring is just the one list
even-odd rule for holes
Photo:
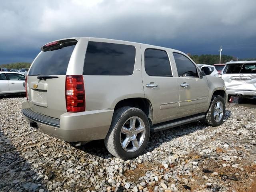
[[[216,104],[218,102],[222,103],[222,116],[221,116],[221,118],[217,118],[218,115],[216,117],[214,117],[214,110],[215,110],[214,108],[215,108],[215,106],[216,106]],[[209,126],[212,126],[212,127],[216,127],[216,126],[221,125],[222,122],[223,122],[223,118],[224,118],[224,114],[225,114],[225,109],[226,109],[225,101],[222,98],[222,96],[213,95],[210,107],[209,107],[208,111],[206,112],[206,116],[204,118],[204,122],[206,124],[208,124]],[[218,112],[217,112],[217,114],[218,114]]]

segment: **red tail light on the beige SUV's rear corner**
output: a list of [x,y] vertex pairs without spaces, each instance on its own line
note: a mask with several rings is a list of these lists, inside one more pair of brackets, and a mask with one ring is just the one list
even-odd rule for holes
[[82,75],[66,76],[67,112],[85,111],[84,79]]

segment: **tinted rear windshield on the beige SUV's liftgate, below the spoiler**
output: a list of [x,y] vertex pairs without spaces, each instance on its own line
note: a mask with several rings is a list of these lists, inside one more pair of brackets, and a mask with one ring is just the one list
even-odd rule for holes
[[66,75],[75,46],[69,44],[59,49],[40,52],[28,75]]

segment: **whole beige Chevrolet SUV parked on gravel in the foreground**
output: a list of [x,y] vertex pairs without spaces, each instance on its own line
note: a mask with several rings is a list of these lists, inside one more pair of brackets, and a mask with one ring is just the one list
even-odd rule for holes
[[138,156],[150,132],[204,120],[222,124],[224,81],[183,52],[101,38],[68,38],[41,48],[26,78],[30,126],[78,145],[104,139],[122,159]]

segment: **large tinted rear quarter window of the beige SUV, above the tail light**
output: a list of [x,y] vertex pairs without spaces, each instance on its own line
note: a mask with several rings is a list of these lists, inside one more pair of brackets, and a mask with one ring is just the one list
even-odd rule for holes
[[88,43],[84,75],[131,75],[134,70],[135,47],[132,45]]

